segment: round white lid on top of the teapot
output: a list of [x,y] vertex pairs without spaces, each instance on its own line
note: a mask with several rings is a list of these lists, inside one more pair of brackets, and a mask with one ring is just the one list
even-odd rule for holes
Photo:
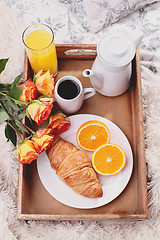
[[132,61],[135,45],[122,34],[111,33],[100,40],[97,52],[103,61],[122,66]]

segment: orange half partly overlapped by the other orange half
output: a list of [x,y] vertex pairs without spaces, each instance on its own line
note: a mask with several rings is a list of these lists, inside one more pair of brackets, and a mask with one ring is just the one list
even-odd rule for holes
[[110,138],[111,134],[108,127],[103,122],[97,120],[83,123],[76,134],[79,147],[90,152],[108,143]]

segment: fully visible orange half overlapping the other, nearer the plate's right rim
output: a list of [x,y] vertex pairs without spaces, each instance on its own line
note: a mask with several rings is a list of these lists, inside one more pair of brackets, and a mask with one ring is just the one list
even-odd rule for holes
[[103,176],[113,176],[119,173],[125,164],[125,152],[120,146],[113,143],[100,146],[92,154],[93,168]]

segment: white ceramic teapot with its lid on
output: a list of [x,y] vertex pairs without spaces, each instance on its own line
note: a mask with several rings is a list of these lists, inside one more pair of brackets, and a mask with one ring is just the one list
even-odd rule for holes
[[124,31],[109,33],[97,45],[92,69],[85,69],[83,76],[90,77],[96,91],[105,96],[124,93],[130,85],[131,62],[142,38],[141,32],[134,35]]

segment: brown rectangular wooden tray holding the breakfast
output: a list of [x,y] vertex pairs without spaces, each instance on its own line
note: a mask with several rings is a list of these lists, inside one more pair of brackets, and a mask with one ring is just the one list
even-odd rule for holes
[[[82,76],[82,71],[91,68],[96,56],[96,45],[57,45],[56,49],[59,63],[56,79],[65,75],[73,75],[81,80],[83,87],[91,86],[89,79]],[[28,58],[25,56],[24,79],[29,78],[31,74]],[[96,114],[107,118],[119,126],[127,136],[134,156],[133,173],[127,187],[115,200],[102,207],[94,209],[72,208],[60,203],[47,192],[38,176],[36,161],[30,165],[19,164],[17,218],[25,220],[147,218],[146,162],[139,53],[136,53],[133,60],[131,86],[127,92],[118,97],[105,97],[96,93],[94,97],[84,102],[78,113]]]

